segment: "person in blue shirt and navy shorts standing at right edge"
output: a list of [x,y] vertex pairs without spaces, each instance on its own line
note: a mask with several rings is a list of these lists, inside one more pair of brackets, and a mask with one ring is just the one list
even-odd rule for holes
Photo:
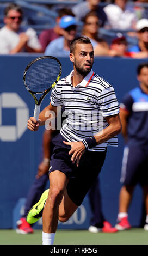
[[120,105],[122,135],[126,142],[122,161],[118,230],[131,228],[128,208],[135,185],[143,188],[148,230],[148,63],[138,66],[139,87],[129,91]]

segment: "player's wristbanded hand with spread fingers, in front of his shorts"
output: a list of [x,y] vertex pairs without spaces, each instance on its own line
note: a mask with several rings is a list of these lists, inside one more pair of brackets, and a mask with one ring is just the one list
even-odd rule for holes
[[73,163],[76,162],[76,165],[78,167],[79,160],[81,159],[81,156],[85,152],[85,146],[84,146],[83,142],[81,142],[81,141],[79,141],[79,142],[65,142],[64,141],[64,144],[71,146],[71,150],[69,151],[69,155],[72,154],[71,161]]

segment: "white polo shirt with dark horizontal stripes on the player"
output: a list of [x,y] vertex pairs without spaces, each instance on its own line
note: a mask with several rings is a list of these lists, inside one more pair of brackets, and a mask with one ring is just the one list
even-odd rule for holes
[[[105,117],[119,113],[114,88],[92,70],[73,87],[71,77],[61,79],[51,92],[53,106],[65,106],[66,123],[60,130],[69,142],[82,141],[97,135],[108,126]],[[117,136],[96,145],[91,151],[104,151],[108,145],[117,146]]]

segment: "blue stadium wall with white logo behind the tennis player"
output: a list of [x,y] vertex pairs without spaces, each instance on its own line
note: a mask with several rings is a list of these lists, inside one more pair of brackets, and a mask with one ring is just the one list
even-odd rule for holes
[[[42,155],[42,132],[27,130],[27,120],[33,115],[34,101],[23,85],[23,71],[27,64],[38,56],[18,54],[1,56],[0,59],[0,147],[1,147],[1,185],[0,185],[0,228],[15,228],[16,221],[23,212],[27,193],[34,181]],[[72,69],[69,58],[60,58],[63,66],[61,77]],[[143,59],[96,58],[94,71],[111,83],[119,102],[129,90],[138,86],[136,68]],[[148,61],[148,60],[147,60]],[[50,95],[42,103],[44,108],[49,103]],[[118,214],[120,173],[124,142],[121,135],[119,147],[109,147],[107,158],[100,174],[102,210],[112,225]],[[91,175],[91,174],[90,174]],[[48,181],[47,185],[48,187]],[[142,191],[135,188],[129,208],[129,221],[139,226],[143,215]],[[88,197],[67,223],[59,223],[58,228],[87,229],[91,211]],[[41,228],[39,221],[35,228]]]

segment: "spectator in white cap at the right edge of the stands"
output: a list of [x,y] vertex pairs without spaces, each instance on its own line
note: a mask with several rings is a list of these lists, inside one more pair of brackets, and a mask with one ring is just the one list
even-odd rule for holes
[[148,19],[141,19],[136,25],[138,44],[129,48],[137,58],[148,58]]

